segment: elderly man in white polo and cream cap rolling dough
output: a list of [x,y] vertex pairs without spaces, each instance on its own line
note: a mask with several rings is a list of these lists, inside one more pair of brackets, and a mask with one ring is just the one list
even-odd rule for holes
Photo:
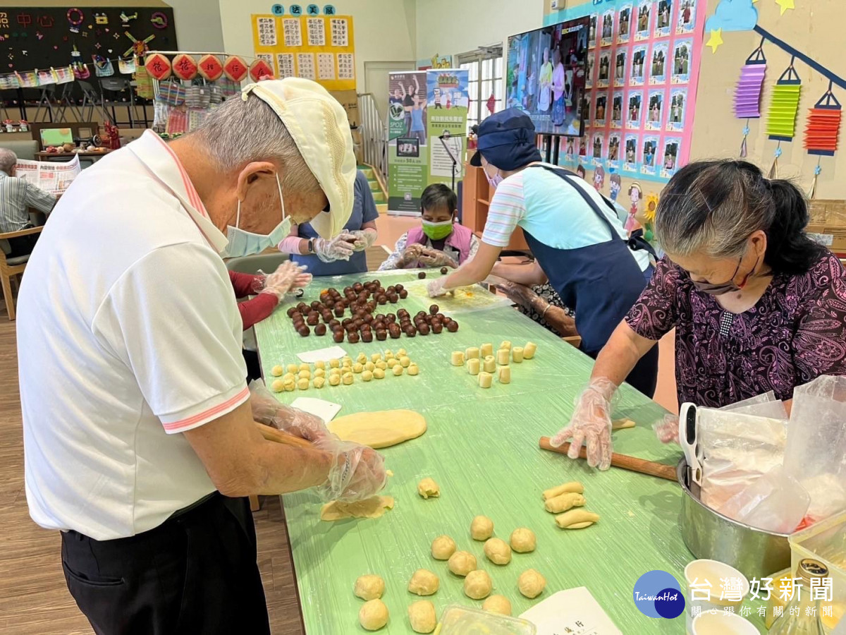
[[[177,141],[148,130],[52,212],[19,295],[26,498],[62,530],[70,593],[97,633],[269,632],[243,497],[382,489],[373,450],[285,406],[259,417],[221,259],[275,245],[292,220],[337,235],[351,143],[321,86],[268,80]],[[313,443],[266,441],[255,418]]]

